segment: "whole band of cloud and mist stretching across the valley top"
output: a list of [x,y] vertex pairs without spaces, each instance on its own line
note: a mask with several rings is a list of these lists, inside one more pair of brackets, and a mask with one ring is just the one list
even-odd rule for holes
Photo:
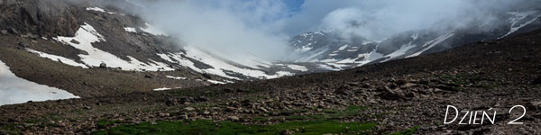
[[292,60],[291,36],[328,30],[344,38],[371,40],[401,31],[467,27],[472,21],[493,24],[494,15],[523,6],[527,0],[307,0],[298,11],[282,0],[132,0],[144,6],[134,13],[186,46],[213,51],[229,59],[257,56]]

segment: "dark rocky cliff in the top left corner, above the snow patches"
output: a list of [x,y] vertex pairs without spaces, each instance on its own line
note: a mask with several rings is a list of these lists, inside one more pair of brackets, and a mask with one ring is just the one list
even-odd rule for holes
[[49,37],[73,35],[78,11],[58,0],[5,0],[0,2],[0,29]]

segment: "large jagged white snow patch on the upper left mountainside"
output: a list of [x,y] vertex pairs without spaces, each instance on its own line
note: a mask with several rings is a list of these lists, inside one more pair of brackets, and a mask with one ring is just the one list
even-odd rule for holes
[[[125,61],[122,58],[118,58],[115,55],[105,52],[101,49],[94,48],[92,43],[105,41],[104,37],[99,34],[94,27],[85,23],[81,25],[78,31],[75,33],[75,37],[57,37],[55,40],[64,42],[71,45],[76,49],[87,51],[87,55],[79,54],[81,61],[91,67],[99,67],[101,63],[105,63],[107,67],[120,67],[123,70],[136,70],[136,71],[158,71],[158,70],[174,70],[169,65],[156,62],[149,59],[150,63],[143,63],[136,58],[130,58],[130,61]],[[71,40],[77,40],[78,43],[73,43]]]

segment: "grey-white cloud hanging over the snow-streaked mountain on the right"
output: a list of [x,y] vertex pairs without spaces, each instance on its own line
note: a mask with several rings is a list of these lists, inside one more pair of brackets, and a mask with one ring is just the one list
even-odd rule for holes
[[[389,37],[401,31],[426,28],[467,27],[489,22],[511,10],[539,7],[527,0],[310,0],[284,27],[289,35],[303,31],[334,30],[343,36],[370,39]],[[498,22],[489,22],[498,23]]]

